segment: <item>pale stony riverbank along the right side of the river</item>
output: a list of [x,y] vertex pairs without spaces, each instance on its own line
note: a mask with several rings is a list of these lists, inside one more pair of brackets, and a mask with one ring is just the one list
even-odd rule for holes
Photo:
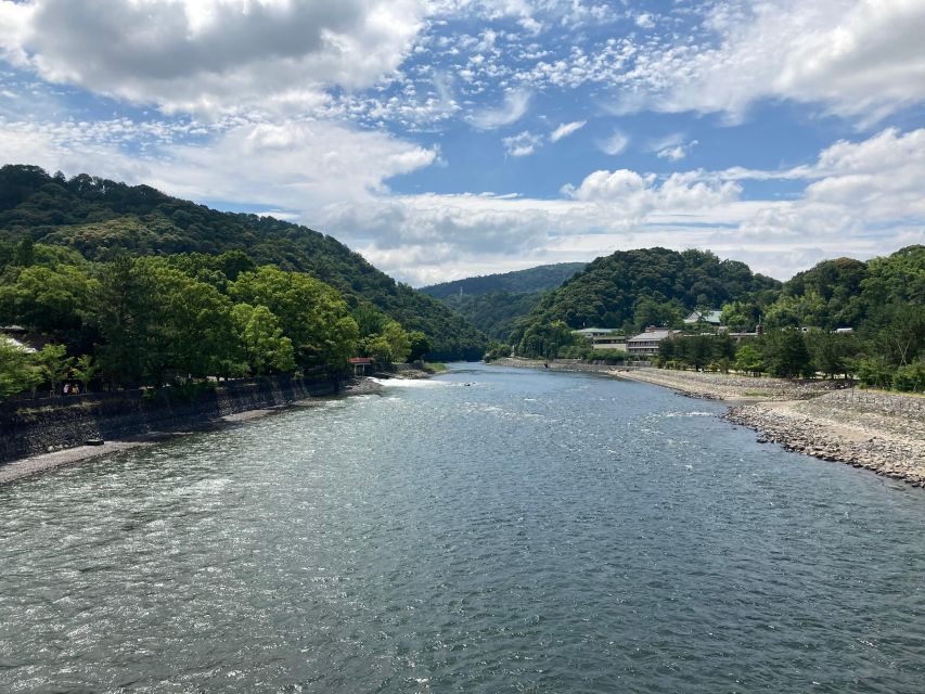
[[[545,368],[540,360],[505,359],[499,363]],[[550,362],[549,368],[578,370],[557,362]],[[731,409],[723,419],[755,429],[762,444],[778,444],[785,450],[847,463],[925,488],[925,397],[861,390],[839,380],[792,381],[619,365],[581,371],[725,402]]]

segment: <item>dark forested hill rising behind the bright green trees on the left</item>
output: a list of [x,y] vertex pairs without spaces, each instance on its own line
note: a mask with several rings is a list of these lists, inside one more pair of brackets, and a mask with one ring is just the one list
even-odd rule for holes
[[[429,338],[432,357],[477,359],[487,340],[426,294],[401,284],[331,236],[272,217],[221,213],[147,185],[63,175],[35,166],[0,169],[0,244],[24,239],[67,246],[91,260],[123,253],[170,255],[230,250],[257,265],[306,272],[339,290],[350,308],[371,304]],[[2,250],[2,248],[0,248]]]

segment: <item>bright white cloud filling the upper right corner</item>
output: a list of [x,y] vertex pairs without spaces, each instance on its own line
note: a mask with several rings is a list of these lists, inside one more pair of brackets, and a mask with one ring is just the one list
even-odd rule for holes
[[761,99],[875,120],[925,101],[921,0],[716,2],[702,35],[640,47],[617,111],[725,112]]

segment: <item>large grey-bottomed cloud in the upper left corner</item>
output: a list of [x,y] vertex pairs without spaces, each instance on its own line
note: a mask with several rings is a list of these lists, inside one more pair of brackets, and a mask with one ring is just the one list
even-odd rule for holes
[[312,107],[325,86],[395,70],[425,11],[423,0],[0,0],[0,48],[48,81],[166,112]]

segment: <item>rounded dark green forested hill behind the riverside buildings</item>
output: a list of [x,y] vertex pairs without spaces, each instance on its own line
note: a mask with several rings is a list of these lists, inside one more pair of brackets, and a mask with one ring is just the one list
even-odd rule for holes
[[618,250],[598,258],[547,294],[519,326],[518,342],[531,327],[562,321],[571,329],[671,324],[693,308],[720,308],[755,294],[774,295],[781,283],[755,274],[744,262],[720,260],[702,250],[667,248]]

